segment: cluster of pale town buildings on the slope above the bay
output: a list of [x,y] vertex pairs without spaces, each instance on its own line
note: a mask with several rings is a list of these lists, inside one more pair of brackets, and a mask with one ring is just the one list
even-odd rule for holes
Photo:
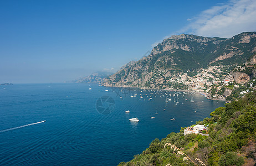
[[[230,65],[208,66],[207,69],[199,70],[194,76],[189,76],[186,72],[173,75],[167,82],[183,84],[187,90],[199,92],[211,99],[225,100],[225,97],[230,95],[232,90],[240,87],[245,87],[245,90],[240,91],[239,94],[247,94],[249,89],[255,86],[255,79],[250,80],[251,77],[255,77],[255,73],[253,72],[250,76],[245,72],[248,69],[254,69],[254,66],[245,63],[236,66],[233,70],[231,68]],[[178,88],[170,86],[167,89],[176,90]]]

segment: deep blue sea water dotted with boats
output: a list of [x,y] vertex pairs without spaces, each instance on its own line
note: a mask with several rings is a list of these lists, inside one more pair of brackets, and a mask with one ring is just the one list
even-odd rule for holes
[[[0,165],[117,165],[224,106],[177,94],[98,84],[0,86]],[[140,121],[129,121],[134,117]],[[4,131],[14,127],[21,128]]]

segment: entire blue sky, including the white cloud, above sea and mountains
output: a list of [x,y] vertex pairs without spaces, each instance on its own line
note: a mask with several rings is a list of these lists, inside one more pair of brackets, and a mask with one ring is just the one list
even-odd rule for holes
[[0,0],[0,84],[115,72],[171,35],[256,31],[255,15],[254,0]]

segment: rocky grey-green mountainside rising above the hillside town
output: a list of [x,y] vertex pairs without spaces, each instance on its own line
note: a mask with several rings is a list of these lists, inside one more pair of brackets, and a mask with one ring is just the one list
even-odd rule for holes
[[125,65],[104,79],[103,85],[164,89],[172,76],[192,75],[208,65],[245,63],[255,52],[256,32],[241,33],[230,39],[173,35],[155,46],[149,56]]

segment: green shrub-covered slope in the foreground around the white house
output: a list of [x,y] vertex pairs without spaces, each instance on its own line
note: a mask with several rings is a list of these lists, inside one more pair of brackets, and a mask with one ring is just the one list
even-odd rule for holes
[[211,118],[197,122],[208,126],[209,136],[184,136],[185,128],[181,128],[161,141],[155,139],[142,154],[119,165],[254,165],[256,92],[225,106],[216,108]]

